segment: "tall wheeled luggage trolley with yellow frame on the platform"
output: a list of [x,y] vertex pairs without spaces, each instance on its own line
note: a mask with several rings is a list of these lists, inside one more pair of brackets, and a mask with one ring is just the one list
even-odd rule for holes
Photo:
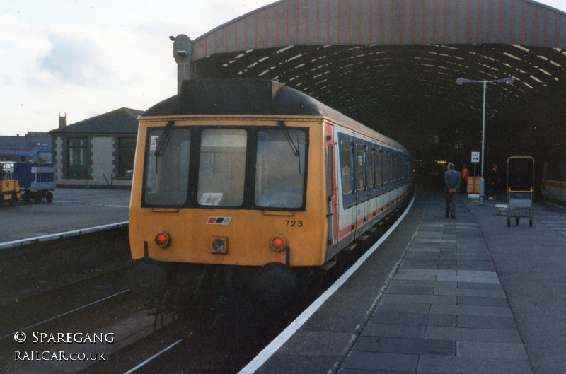
[[[532,180],[525,178],[529,168],[532,169]],[[517,225],[519,218],[529,218],[529,227],[533,227],[534,185],[535,159],[531,156],[507,158],[507,227],[511,226],[513,217]]]

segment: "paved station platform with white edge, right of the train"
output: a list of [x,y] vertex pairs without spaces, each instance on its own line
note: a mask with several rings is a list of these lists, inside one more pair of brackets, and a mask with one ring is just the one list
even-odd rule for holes
[[532,228],[507,227],[501,203],[461,195],[451,219],[444,194],[417,192],[359,269],[241,373],[565,373],[566,209],[537,204]]

